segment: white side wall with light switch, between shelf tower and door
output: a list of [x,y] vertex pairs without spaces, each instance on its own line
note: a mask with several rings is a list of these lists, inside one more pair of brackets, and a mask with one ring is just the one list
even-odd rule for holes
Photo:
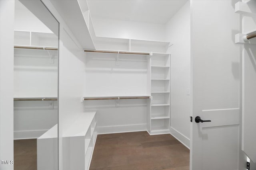
[[173,45],[171,54],[171,128],[170,132],[190,147],[190,123],[192,114],[190,89],[190,1],[166,24],[166,41]]

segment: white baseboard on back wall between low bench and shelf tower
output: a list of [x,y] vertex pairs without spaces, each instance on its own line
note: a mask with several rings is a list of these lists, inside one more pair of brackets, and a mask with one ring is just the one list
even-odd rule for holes
[[136,132],[136,131],[147,131],[147,124],[97,127],[97,132],[99,135],[109,134],[109,133]]

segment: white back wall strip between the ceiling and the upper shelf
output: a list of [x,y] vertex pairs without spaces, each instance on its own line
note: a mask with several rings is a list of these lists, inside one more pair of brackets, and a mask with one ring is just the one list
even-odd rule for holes
[[164,41],[165,25],[92,18],[96,36]]

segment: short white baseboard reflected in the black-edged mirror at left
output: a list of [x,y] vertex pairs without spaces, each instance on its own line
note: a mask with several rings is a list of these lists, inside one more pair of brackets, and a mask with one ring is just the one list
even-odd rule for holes
[[14,131],[14,140],[18,139],[37,139],[48,130],[33,130],[33,131]]

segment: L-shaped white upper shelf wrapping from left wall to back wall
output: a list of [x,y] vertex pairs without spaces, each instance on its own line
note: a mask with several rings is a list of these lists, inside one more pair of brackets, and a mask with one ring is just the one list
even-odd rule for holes
[[84,49],[166,53],[170,45],[165,41],[98,37],[86,1],[50,1]]

